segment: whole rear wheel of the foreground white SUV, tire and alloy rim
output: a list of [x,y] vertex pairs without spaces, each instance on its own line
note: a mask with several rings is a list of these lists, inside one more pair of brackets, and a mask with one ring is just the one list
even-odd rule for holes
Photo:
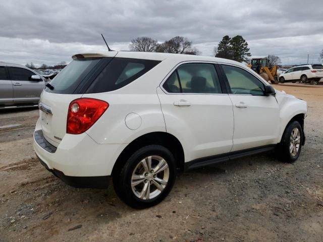
[[176,178],[173,154],[164,146],[148,145],[137,150],[113,176],[116,193],[133,208],[160,203],[172,190]]

